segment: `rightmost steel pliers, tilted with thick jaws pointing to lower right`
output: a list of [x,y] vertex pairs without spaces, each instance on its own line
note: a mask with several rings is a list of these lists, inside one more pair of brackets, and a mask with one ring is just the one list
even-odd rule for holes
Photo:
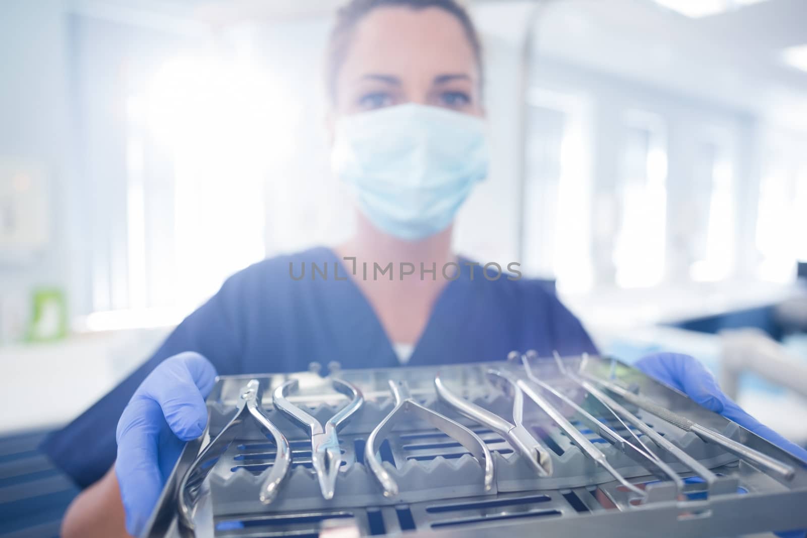
[[[491,372],[492,370],[488,370],[488,374]],[[499,415],[495,415],[495,413],[491,413],[491,411],[487,411],[487,409],[483,409],[483,407],[479,407],[475,403],[469,402],[451,392],[443,384],[440,373],[437,373],[434,377],[434,387],[437,390],[437,396],[449,406],[454,407],[469,419],[474,419],[478,423],[490,427],[491,430],[504,437],[516,452],[525,457],[538,476],[546,477],[552,474],[552,458],[549,452],[524,426],[524,393],[519,386],[512,386],[513,423],[509,423]]]

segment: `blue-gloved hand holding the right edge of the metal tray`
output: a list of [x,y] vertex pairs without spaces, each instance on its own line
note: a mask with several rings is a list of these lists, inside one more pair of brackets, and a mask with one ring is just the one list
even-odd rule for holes
[[[771,428],[759,423],[731,398],[723,394],[714,376],[704,365],[693,357],[679,355],[678,353],[659,353],[639,359],[634,365],[650,377],[664,384],[680,390],[701,406],[733,420],[747,430],[754,432],[763,439],[771,441],[779,448],[791,453],[793,456],[807,461],[807,450],[788,441]],[[803,538],[805,531],[778,532],[781,538]]]

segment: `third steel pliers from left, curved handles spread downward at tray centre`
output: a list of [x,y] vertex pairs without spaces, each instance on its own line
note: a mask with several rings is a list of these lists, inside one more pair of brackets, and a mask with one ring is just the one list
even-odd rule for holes
[[436,427],[445,435],[456,440],[462,444],[468,452],[470,452],[485,469],[484,487],[485,491],[491,490],[493,487],[493,460],[491,459],[491,452],[487,448],[487,444],[479,438],[469,428],[463,426],[445,415],[441,415],[437,411],[424,407],[412,398],[409,392],[409,386],[404,381],[389,380],[390,390],[395,397],[395,407],[384,419],[378,423],[370,436],[367,437],[367,444],[365,445],[364,460],[370,465],[375,478],[384,490],[385,497],[394,497],[398,494],[398,484],[384,469],[381,461],[376,457],[379,445],[395,427],[395,419],[403,417],[404,415],[412,414],[417,418]]

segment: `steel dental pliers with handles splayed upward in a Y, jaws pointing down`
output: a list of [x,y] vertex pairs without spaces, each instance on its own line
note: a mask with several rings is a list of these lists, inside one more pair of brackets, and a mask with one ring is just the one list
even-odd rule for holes
[[327,500],[333,498],[337,474],[339,473],[340,465],[342,465],[342,453],[339,448],[337,432],[345,424],[345,420],[358,411],[364,403],[362,392],[353,384],[337,378],[332,378],[331,382],[337,392],[350,398],[350,402],[337,411],[336,415],[328,419],[324,427],[320,421],[295,406],[286,398],[292,390],[296,390],[299,386],[296,379],[290,379],[278,386],[272,396],[274,407],[288,415],[300,427],[307,430],[308,435],[311,436],[311,462],[316,478],[320,482],[322,496]]

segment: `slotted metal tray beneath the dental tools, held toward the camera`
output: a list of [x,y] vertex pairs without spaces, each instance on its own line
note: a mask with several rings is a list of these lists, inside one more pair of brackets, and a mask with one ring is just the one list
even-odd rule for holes
[[[563,361],[572,368],[580,365],[579,357]],[[695,433],[684,432],[622,401],[676,447],[712,469],[719,480],[707,487],[688,467],[642,436],[646,445],[684,478],[684,489],[679,490],[673,482],[656,478],[640,461],[589,429],[574,409],[558,406],[580,432],[597,444],[613,467],[646,490],[647,496],[641,500],[597,467],[540,409],[528,406],[524,423],[550,448],[553,464],[550,476],[539,477],[501,436],[437,400],[433,380],[439,371],[463,397],[497,415],[508,416],[512,401],[486,382],[485,373],[495,367],[524,377],[524,369],[521,363],[500,361],[332,371],[331,375],[338,373],[338,377],[362,390],[366,402],[339,433],[344,463],[338,473],[336,494],[325,500],[311,469],[310,440],[273,408],[271,392],[291,377],[298,379],[300,391],[293,397],[295,403],[308,407],[311,415],[322,421],[346,399],[328,390],[327,380],[314,371],[220,376],[207,398],[208,432],[186,444],[144,536],[299,538],[329,534],[386,536],[399,532],[493,536],[503,531],[511,536],[734,536],[807,528],[807,464],[627,365],[588,357],[584,366],[585,373],[592,377],[638,389],[678,415],[792,465],[795,476],[787,480],[764,473],[725,452],[720,445],[706,443]],[[586,407],[583,390],[564,377],[554,361],[533,360],[532,369],[542,381]],[[291,472],[274,502],[266,505],[258,501],[261,476],[274,461],[275,447],[258,427],[244,423],[207,478],[207,493],[197,514],[203,524],[197,525],[194,535],[178,523],[178,484],[199,450],[228,423],[241,387],[251,379],[261,383],[266,416],[291,444]],[[482,465],[462,445],[428,423],[412,419],[399,423],[381,445],[383,465],[399,485],[399,494],[394,498],[383,496],[364,463],[364,447],[366,437],[391,411],[390,379],[407,382],[417,401],[470,427],[482,438],[493,455],[492,490],[483,490]],[[613,417],[597,417],[628,436],[625,427]]]

